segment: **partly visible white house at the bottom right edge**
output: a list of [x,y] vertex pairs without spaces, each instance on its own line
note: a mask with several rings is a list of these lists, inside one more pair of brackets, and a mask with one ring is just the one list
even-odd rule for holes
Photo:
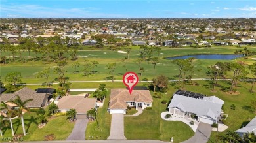
[[256,135],[256,116],[255,118],[251,119],[251,121],[245,127],[242,127],[241,129],[238,129],[235,132],[238,133],[238,135],[240,135],[241,137],[243,137],[244,134],[251,132],[253,132],[254,135]]

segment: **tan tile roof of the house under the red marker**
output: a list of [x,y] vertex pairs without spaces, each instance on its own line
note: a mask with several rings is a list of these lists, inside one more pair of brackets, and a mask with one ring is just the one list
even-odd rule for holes
[[133,90],[130,95],[127,89],[111,89],[110,109],[127,109],[126,102],[152,103],[153,99],[148,90]]

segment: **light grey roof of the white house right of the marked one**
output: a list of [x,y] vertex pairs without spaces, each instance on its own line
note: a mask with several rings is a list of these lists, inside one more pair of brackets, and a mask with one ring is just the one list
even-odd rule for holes
[[[195,99],[192,97],[174,94],[168,108],[177,107],[184,112],[191,112],[197,116],[209,116],[217,120],[217,117],[221,114],[221,106],[223,105],[221,102],[222,100],[218,97],[209,97],[207,99]],[[209,99],[215,100],[210,101]]]

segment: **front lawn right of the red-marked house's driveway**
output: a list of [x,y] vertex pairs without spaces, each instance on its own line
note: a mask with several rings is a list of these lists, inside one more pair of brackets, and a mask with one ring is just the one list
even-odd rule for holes
[[[165,98],[169,97],[164,95],[163,99]],[[143,110],[143,113],[137,117],[125,117],[127,139],[169,141],[173,137],[175,142],[181,142],[194,135],[194,131],[182,122],[161,119],[160,114],[167,107],[167,104],[161,104],[163,99],[154,99],[152,110]]]

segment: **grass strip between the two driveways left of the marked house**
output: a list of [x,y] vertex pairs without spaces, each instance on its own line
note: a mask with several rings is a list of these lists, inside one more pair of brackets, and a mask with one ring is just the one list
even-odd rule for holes
[[[89,121],[87,125],[85,132],[86,140],[92,140],[92,138],[89,138],[89,136],[94,136],[94,140],[106,140],[108,136],[110,136],[111,116],[107,112],[109,100],[110,95],[108,92],[103,107],[98,108],[97,120],[95,119],[95,121]],[[96,138],[96,136],[98,136],[98,138]]]

